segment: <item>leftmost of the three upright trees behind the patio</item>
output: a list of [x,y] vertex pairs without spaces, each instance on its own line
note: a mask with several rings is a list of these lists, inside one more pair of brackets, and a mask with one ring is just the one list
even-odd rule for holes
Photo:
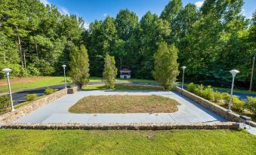
[[89,82],[89,58],[84,45],[73,47],[70,53],[70,76],[79,89]]

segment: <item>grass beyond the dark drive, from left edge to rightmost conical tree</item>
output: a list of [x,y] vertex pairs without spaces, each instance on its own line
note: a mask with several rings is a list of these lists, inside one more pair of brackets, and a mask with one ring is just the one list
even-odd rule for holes
[[[91,77],[91,82],[101,81],[101,78],[98,77]],[[129,80],[122,80],[117,79],[117,81],[134,81],[134,82],[148,82],[148,83],[156,83],[156,81],[151,80],[143,80],[143,79],[129,79]],[[11,84],[11,90],[13,92],[22,91],[22,90],[30,90],[39,87],[48,87],[53,85],[63,84],[63,77],[50,77],[45,78],[39,81],[22,83],[22,84]],[[0,86],[0,93],[8,93],[8,86]]]

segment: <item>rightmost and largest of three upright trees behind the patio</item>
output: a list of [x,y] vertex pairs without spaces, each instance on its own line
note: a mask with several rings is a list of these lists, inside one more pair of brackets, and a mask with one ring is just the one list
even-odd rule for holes
[[159,48],[154,54],[155,69],[153,77],[165,87],[165,90],[174,86],[179,74],[177,53],[178,50],[174,44],[168,45],[166,42],[160,42]]

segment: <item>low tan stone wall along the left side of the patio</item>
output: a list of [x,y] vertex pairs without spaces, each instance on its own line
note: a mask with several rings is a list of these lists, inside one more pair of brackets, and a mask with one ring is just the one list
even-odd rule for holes
[[49,102],[53,102],[54,100],[59,99],[62,96],[65,96],[66,93],[66,89],[59,90],[56,93],[52,93],[48,96],[42,97],[41,99],[35,100],[29,103],[28,105],[24,105],[20,108],[17,108],[16,111],[2,114],[0,115],[0,125],[12,123],[20,117],[23,117],[26,114],[35,111],[35,109],[47,105]]

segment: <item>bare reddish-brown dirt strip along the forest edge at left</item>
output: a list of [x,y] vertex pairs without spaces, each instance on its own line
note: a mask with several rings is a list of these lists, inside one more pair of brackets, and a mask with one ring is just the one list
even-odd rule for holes
[[[22,83],[28,83],[28,82],[34,82],[34,81],[39,81],[45,78],[49,78],[49,77],[29,77],[29,78],[11,78],[11,84],[22,84]],[[1,85],[7,85],[7,80],[6,79],[2,79],[0,81],[0,86]]]

